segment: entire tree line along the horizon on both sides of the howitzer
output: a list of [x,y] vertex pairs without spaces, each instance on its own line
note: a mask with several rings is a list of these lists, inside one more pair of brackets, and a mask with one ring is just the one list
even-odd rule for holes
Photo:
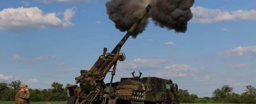
[[[15,94],[20,89],[21,81],[13,81],[9,84],[0,82],[0,100],[14,101]],[[245,92],[236,94],[233,88],[223,85],[213,91],[212,97],[199,98],[196,94],[189,94],[188,90],[178,89],[178,101],[180,103],[253,103],[256,104],[256,88],[248,85]],[[67,89],[63,84],[53,82],[50,89],[29,89],[30,101],[66,101]]]

